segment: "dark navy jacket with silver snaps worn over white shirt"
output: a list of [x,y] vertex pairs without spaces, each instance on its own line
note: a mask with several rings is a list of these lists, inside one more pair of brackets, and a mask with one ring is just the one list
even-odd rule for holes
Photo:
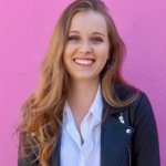
[[[122,100],[132,94],[131,90],[116,89]],[[101,126],[101,166],[160,166],[157,127],[146,94],[141,92],[135,102],[123,108],[113,107],[104,100],[103,103],[106,118]],[[61,166],[60,147],[61,135],[50,166]],[[20,158],[18,165],[30,166]],[[39,162],[32,166],[37,165]]]

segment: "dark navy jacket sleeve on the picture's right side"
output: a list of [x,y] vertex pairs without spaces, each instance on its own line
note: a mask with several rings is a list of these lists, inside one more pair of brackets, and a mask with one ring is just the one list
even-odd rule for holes
[[141,93],[135,106],[132,165],[160,166],[156,121],[145,93]]

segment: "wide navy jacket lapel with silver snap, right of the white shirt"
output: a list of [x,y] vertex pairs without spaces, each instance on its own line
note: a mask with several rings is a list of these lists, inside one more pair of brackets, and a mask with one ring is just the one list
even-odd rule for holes
[[131,126],[122,124],[112,116],[112,114],[121,112],[121,110],[110,108],[107,111],[106,108],[103,110],[103,116],[106,112],[107,116],[101,128],[101,166],[120,165],[121,156],[134,132]]

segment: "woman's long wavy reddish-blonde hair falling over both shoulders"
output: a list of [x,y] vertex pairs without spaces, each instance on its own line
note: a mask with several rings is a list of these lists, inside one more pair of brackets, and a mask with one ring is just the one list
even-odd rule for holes
[[[126,84],[121,75],[125,45],[107,8],[100,0],[75,0],[58,20],[48,53],[41,65],[39,86],[22,106],[21,123],[18,128],[20,156],[28,157],[35,154],[42,166],[49,165],[51,154],[56,146],[63,106],[70,91],[69,76],[63,65],[62,54],[71,20],[75,13],[89,10],[101,13],[107,23],[111,50],[110,61],[101,73],[104,100],[112,106],[122,107],[131,104],[137,97],[137,93],[135,93],[129,98],[122,101],[116,94],[115,84]],[[31,152],[31,154],[27,154],[27,152]]]

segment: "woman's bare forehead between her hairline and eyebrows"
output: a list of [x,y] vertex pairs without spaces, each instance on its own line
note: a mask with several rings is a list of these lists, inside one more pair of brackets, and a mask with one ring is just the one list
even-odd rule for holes
[[98,31],[107,33],[107,25],[101,13],[95,11],[82,11],[72,18],[70,31]]

